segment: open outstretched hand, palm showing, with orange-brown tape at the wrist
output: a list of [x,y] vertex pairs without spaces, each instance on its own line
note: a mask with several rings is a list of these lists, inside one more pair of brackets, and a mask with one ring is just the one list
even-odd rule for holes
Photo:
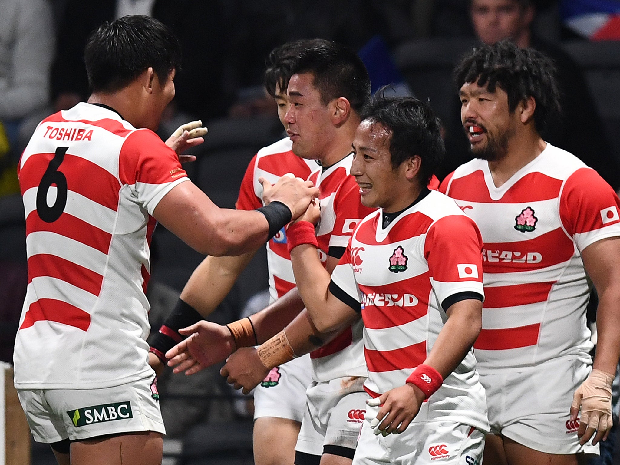
[[198,373],[226,360],[235,349],[230,330],[211,321],[202,320],[179,329],[179,334],[189,337],[166,352],[168,366],[174,367],[174,373]]

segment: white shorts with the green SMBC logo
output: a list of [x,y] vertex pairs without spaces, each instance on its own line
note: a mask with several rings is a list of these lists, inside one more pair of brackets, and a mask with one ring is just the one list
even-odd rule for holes
[[56,443],[154,431],[166,434],[155,376],[102,389],[18,389],[35,441]]

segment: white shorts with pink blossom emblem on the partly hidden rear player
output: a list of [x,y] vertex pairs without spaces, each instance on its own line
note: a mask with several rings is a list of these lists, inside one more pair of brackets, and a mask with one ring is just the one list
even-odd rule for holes
[[301,423],[306,389],[312,383],[310,355],[277,366],[254,389],[254,420],[260,417],[288,418]]

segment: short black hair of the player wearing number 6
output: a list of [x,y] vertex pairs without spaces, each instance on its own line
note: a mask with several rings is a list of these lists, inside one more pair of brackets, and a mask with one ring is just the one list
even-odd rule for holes
[[92,92],[114,92],[149,67],[163,85],[181,61],[181,47],[174,33],[156,19],[123,16],[104,22],[91,33],[84,63]]

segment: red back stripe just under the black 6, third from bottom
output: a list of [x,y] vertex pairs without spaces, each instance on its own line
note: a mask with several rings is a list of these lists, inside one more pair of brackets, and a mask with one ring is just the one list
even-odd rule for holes
[[104,254],[108,253],[110,242],[112,242],[112,234],[109,232],[102,231],[68,213],[62,213],[56,221],[47,223],[39,218],[36,210],[32,211],[26,218],[26,236],[33,231],[55,232],[74,241],[82,242]]

